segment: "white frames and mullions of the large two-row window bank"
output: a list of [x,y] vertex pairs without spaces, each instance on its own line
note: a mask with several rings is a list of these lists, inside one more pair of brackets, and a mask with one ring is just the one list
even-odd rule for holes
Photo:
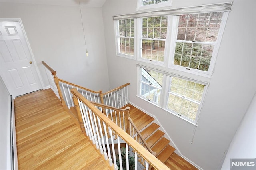
[[[212,13],[214,11],[208,11],[208,12],[202,12],[202,13]],[[222,21],[220,22],[220,28],[218,32],[218,36],[216,39],[216,42],[194,42],[194,41],[187,41],[187,40],[177,40],[177,34],[178,34],[178,24],[179,24],[179,16],[182,15],[175,15],[175,16],[167,16],[168,17],[168,24],[167,24],[167,33],[166,33],[166,39],[165,39],[165,49],[164,49],[164,61],[150,61],[150,59],[142,58],[142,26],[143,26],[143,18],[134,18],[134,56],[128,57],[127,55],[118,55],[121,57],[126,57],[130,59],[136,59],[137,62],[137,97],[151,103],[152,105],[155,105],[164,111],[175,115],[177,117],[180,117],[181,119],[187,121],[188,123],[191,123],[195,126],[197,126],[198,119],[200,117],[200,112],[203,107],[204,99],[206,96],[206,93],[208,91],[208,86],[210,84],[210,79],[212,77],[212,74],[214,72],[214,67],[217,59],[218,50],[220,48],[220,42],[222,40],[223,34],[224,34],[224,28],[226,26],[227,18],[228,18],[229,11],[223,11],[222,15]],[[150,17],[150,16],[149,16]],[[145,17],[145,18],[149,18]],[[153,16],[152,16],[153,17]],[[118,20],[115,21],[115,23],[118,23]],[[115,26],[115,28],[118,28]],[[117,29],[116,29],[117,30]],[[116,34],[117,37],[118,34]],[[147,38],[143,38],[147,39]],[[151,38],[148,38],[149,40],[152,40]],[[116,38],[117,41],[117,38]],[[175,54],[175,48],[176,42],[189,42],[189,43],[200,43],[200,44],[214,44],[213,51],[212,51],[212,57],[210,60],[210,65],[208,68],[208,71],[202,71],[199,69],[193,69],[188,67],[183,67],[180,65],[174,65],[174,54]],[[118,45],[116,42],[116,49]],[[152,49],[151,49],[152,50]],[[140,63],[146,63],[146,65],[142,65]],[[144,97],[141,93],[141,67],[144,69],[149,69],[152,71],[156,71],[158,73],[163,74],[163,82],[162,82],[162,88],[160,89],[160,100],[155,102],[151,99],[148,99],[147,97]],[[172,77],[177,77],[181,79],[185,79],[187,81],[191,81],[194,83],[202,84],[204,85],[204,90],[202,93],[202,99],[200,101],[200,104],[198,105],[198,110],[196,113],[195,120],[192,120],[184,115],[181,115],[179,113],[176,113],[175,111],[168,108],[168,98],[169,98],[169,88],[171,86],[170,80]],[[144,82],[145,83],[145,82]],[[146,83],[145,83],[146,84]],[[149,84],[147,84],[149,85]],[[150,85],[149,85],[150,86]],[[153,86],[152,86],[153,87]],[[154,87],[155,88],[155,87]],[[155,89],[154,89],[155,90]],[[152,96],[151,96],[152,98]],[[153,97],[154,99],[154,97]],[[188,100],[189,101],[189,100]],[[193,102],[193,101],[191,101]],[[189,104],[191,105],[191,104]],[[192,104],[193,105],[193,104]],[[181,104],[182,107],[182,104]],[[189,109],[189,107],[188,107]],[[174,109],[175,110],[175,109]],[[188,110],[189,112],[189,110]],[[188,113],[186,112],[186,113]],[[186,114],[185,113],[185,114]],[[192,117],[194,118],[194,117]]]

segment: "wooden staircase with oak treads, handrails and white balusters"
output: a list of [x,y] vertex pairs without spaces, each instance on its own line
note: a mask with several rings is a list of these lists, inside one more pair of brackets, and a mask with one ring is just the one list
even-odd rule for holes
[[[168,167],[161,162],[166,162],[175,149],[169,145],[170,141],[164,137],[164,132],[159,130],[159,125],[154,123],[154,118],[128,104],[127,86],[130,83],[126,83],[106,93],[102,93],[102,91],[92,91],[58,79],[56,71],[51,69],[43,61],[42,63],[48,73],[48,79],[51,80],[50,87],[52,91],[54,91],[62,105],[67,105],[68,108],[70,108],[70,112],[73,112],[73,115],[78,118],[77,123],[80,124],[82,132],[92,140],[92,143],[100,150],[100,154],[104,155],[104,159],[109,160],[110,166],[114,164],[114,169],[117,169],[116,154],[113,154],[113,158],[111,158],[111,150],[108,143],[112,144],[112,151],[114,153],[114,140],[117,139],[118,144],[120,144],[119,140],[124,140],[126,150],[130,149],[134,151],[136,160],[136,155],[138,154],[138,161],[147,170],[152,169],[152,166],[157,169],[168,169]],[[106,103],[106,105],[103,103]],[[130,110],[129,108],[123,110],[117,109],[117,107],[122,106],[129,106]],[[119,114],[116,114],[116,111],[118,111]],[[105,117],[103,113],[111,120]],[[102,127],[102,125],[104,126]],[[134,129],[136,133],[132,134],[131,132],[132,130],[134,131]],[[111,142],[109,142],[108,139],[104,139],[104,136],[110,137]],[[139,138],[139,140],[135,139],[136,142],[132,138]],[[107,149],[105,148],[104,140],[106,140]],[[120,148],[118,150],[120,156]],[[153,155],[150,154],[150,152]],[[126,154],[128,153],[126,152]],[[121,158],[119,158],[119,160],[120,159]],[[128,160],[126,160],[126,164],[128,164],[127,161]],[[137,161],[135,161],[135,168],[136,162]],[[120,168],[122,169],[121,165]]]

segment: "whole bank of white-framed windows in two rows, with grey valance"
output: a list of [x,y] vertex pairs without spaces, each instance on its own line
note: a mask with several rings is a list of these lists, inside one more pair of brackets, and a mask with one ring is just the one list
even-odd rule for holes
[[[139,2],[146,7],[171,1]],[[227,2],[114,16],[117,53],[138,60],[138,96],[196,124],[231,6]]]

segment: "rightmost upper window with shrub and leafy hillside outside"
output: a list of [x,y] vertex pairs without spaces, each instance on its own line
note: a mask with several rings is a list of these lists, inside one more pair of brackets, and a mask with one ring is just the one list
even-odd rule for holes
[[223,12],[178,16],[172,64],[208,72]]

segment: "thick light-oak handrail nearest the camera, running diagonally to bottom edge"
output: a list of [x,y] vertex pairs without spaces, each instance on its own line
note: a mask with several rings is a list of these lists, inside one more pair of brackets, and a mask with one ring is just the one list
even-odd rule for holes
[[170,170],[165,164],[152,155],[146,148],[141,146],[134,138],[124,132],[122,128],[118,127],[106,115],[100,112],[90,101],[82,96],[75,88],[70,90],[73,95],[76,95],[82,102],[84,102],[108,127],[113,129],[118,136],[120,136],[129,146],[131,146],[140,156],[142,156],[152,167],[156,170]]

